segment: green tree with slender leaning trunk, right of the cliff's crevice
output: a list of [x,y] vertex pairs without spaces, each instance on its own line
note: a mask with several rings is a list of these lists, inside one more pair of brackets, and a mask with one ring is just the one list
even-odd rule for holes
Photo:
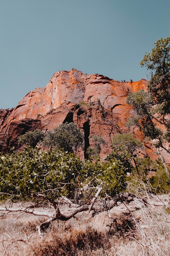
[[119,147],[122,151],[126,151],[130,154],[130,157],[133,159],[136,170],[139,174],[139,170],[135,161],[134,153],[137,149],[144,149],[143,143],[141,140],[135,139],[134,136],[130,133],[127,134],[116,134],[112,140],[113,147]]

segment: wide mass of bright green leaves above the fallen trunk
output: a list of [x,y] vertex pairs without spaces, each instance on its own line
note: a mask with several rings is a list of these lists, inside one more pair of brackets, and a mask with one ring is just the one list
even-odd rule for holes
[[0,192],[22,197],[33,192],[52,194],[55,198],[73,197],[77,187],[92,180],[94,186],[102,186],[103,196],[113,196],[126,188],[125,172],[129,160],[125,164],[125,157],[114,151],[104,163],[93,163],[92,160],[81,161],[71,152],[40,151],[30,146],[21,152],[1,153]]

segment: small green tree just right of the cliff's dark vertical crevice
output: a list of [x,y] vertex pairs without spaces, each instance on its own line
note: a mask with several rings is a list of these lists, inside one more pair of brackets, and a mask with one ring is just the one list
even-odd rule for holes
[[99,135],[94,135],[92,137],[92,140],[93,140],[95,146],[88,147],[86,153],[93,157],[99,157],[99,154],[102,150],[101,145],[107,145],[108,143],[102,136],[99,136]]

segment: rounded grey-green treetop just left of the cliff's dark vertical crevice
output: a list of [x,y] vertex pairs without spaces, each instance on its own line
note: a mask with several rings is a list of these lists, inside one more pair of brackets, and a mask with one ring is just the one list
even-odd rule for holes
[[48,131],[43,143],[46,147],[61,149],[69,152],[77,152],[77,149],[84,146],[84,135],[77,128],[77,124],[64,123]]

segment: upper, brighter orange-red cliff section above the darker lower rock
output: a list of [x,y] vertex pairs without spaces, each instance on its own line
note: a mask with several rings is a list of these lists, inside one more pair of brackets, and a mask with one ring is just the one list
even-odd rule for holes
[[[94,102],[100,99],[104,108],[122,112],[129,92],[146,88],[147,81],[118,82],[102,75],[84,75],[78,70],[55,73],[47,86],[29,92],[12,111],[8,123],[23,119],[37,119],[63,103]],[[120,110],[121,109],[121,110]]]

